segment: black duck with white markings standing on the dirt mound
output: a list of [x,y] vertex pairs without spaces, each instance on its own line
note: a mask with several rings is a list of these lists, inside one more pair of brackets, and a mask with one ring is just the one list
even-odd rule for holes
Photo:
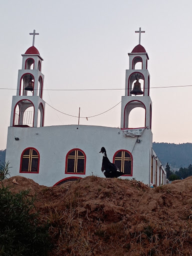
[[124,174],[117,168],[117,166],[114,163],[109,161],[106,155],[106,150],[103,146],[101,147],[99,153],[102,153],[103,155],[101,171],[104,173],[106,178],[117,178]]

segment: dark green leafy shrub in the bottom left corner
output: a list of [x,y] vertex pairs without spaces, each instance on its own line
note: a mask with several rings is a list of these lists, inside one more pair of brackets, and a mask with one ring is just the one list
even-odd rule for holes
[[45,256],[50,249],[47,224],[40,225],[28,191],[0,188],[0,256]]

